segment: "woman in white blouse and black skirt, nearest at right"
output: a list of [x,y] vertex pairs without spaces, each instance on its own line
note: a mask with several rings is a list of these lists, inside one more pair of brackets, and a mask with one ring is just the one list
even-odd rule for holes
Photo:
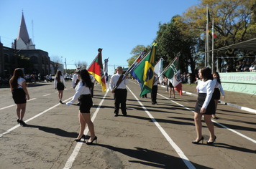
[[202,116],[204,115],[204,121],[210,132],[210,138],[207,141],[207,145],[213,145],[216,140],[214,135],[214,123],[211,122],[211,115],[215,112],[214,98],[212,94],[214,92],[214,81],[212,80],[211,69],[209,67],[202,67],[199,69],[198,77],[201,79],[198,82],[196,90],[198,92],[198,100],[196,102],[194,120],[196,125],[196,140],[193,140],[193,144],[198,144],[201,140],[204,142],[202,135]]

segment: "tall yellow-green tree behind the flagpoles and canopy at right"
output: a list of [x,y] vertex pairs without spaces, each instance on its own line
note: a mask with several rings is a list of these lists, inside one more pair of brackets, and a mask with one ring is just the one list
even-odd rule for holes
[[[175,22],[180,28],[181,34],[200,37],[197,45],[201,52],[205,50],[207,5],[209,6],[210,18],[214,18],[214,32],[216,33],[214,49],[256,37],[255,21],[251,22],[251,16],[255,14],[255,0],[201,0],[201,4],[191,6]],[[212,20],[209,23],[210,29],[211,23]],[[209,39],[211,49],[211,38]],[[220,57],[219,67],[223,67],[224,61],[233,64],[237,57],[250,55],[251,53],[232,49],[219,51],[218,54]]]

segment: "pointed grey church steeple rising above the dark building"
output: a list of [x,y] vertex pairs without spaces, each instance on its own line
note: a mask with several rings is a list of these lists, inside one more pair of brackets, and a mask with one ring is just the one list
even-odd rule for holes
[[[15,43],[12,43],[12,48],[15,49]],[[19,34],[16,39],[16,49],[35,49],[35,44],[33,44],[32,39],[29,39],[23,11],[22,21],[20,21],[19,26]]]

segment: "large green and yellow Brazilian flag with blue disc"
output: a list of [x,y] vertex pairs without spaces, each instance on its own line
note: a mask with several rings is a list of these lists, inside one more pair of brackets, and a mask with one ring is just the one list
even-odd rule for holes
[[152,92],[153,80],[154,80],[154,67],[155,67],[155,53],[157,50],[157,42],[152,44],[152,48],[145,59],[134,68],[134,74],[140,79],[142,84],[142,90],[140,92],[140,97],[147,93]]

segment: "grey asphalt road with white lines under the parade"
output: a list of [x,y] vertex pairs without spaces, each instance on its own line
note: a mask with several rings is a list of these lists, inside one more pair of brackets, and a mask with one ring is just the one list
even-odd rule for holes
[[[67,82],[63,102],[75,90]],[[114,117],[111,92],[94,89],[91,117],[98,142],[86,145],[78,136],[78,106],[60,104],[53,83],[31,84],[31,100],[17,125],[16,105],[8,88],[0,89],[0,168],[255,168],[256,117],[227,105],[218,106],[214,120],[216,143],[206,145],[209,131],[203,122],[204,144],[193,145],[193,95],[168,98],[158,87],[157,103],[140,98],[140,86],[127,85],[127,117]],[[86,140],[90,133],[86,128]]]

